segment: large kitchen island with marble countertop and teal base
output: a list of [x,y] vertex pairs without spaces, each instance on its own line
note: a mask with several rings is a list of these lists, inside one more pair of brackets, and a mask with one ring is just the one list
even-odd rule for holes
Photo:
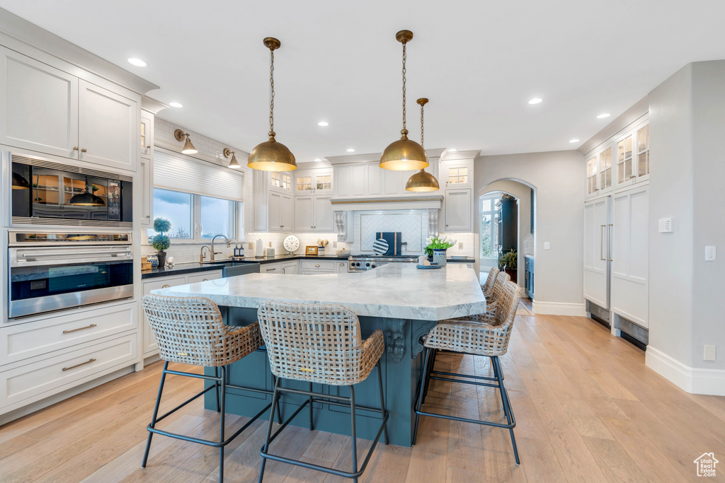
[[[413,403],[421,374],[423,345],[421,337],[436,321],[481,314],[486,300],[473,269],[448,265],[443,269],[416,269],[414,264],[386,264],[368,272],[284,275],[247,274],[190,285],[154,290],[157,295],[210,298],[222,310],[226,324],[247,325],[257,320],[260,303],[274,299],[295,303],[334,303],[350,308],[360,318],[363,339],[374,330],[385,335],[386,351],[381,357],[386,406],[390,417],[390,442],[410,446],[413,431]],[[257,350],[231,365],[233,385],[272,389],[272,377],[265,351]],[[307,383],[285,381],[286,387],[307,389]],[[315,385],[315,391],[323,387]],[[347,387],[325,387],[330,394],[347,396]],[[233,392],[232,392],[233,391]],[[207,408],[215,408],[215,399],[207,393]],[[379,407],[376,374],[355,387],[360,405]],[[252,416],[267,405],[271,396],[264,393],[230,390],[227,412]],[[286,396],[283,416],[291,414],[302,398]],[[293,421],[307,426],[305,411]],[[373,439],[379,428],[380,414],[358,411],[357,434]],[[315,403],[315,428],[349,435],[349,410]]]

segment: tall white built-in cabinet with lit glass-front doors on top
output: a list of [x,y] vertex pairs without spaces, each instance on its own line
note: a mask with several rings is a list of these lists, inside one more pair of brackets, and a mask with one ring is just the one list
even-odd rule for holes
[[[649,125],[646,116],[586,156],[584,298],[587,311],[648,341]],[[656,161],[655,161],[656,162]]]

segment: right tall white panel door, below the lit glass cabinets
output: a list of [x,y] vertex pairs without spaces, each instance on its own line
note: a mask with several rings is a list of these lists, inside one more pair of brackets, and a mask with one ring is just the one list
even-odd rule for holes
[[612,311],[649,325],[649,232],[647,187],[612,198]]

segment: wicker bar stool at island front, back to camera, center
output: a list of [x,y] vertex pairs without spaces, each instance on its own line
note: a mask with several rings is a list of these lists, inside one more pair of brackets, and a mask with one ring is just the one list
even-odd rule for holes
[[[267,346],[270,369],[277,377],[267,438],[264,448],[260,451],[262,468],[260,469],[259,481],[262,482],[265,463],[268,459],[271,459],[352,478],[354,482],[357,482],[357,478],[363,474],[365,467],[368,466],[370,456],[373,455],[382,433],[385,434],[385,444],[388,444],[388,413],[385,410],[383,375],[380,366],[380,357],[385,348],[383,332],[376,330],[370,337],[362,340],[360,321],[349,308],[343,306],[266,301],[260,305],[257,318],[260,323],[262,339]],[[353,385],[367,379],[374,367],[378,368],[381,407],[368,408],[356,405],[355,387]],[[309,390],[282,387],[283,379],[309,382]],[[312,392],[313,382],[332,386],[347,386],[350,390],[350,396],[345,398],[338,395]],[[279,398],[284,393],[307,396],[307,400],[272,434],[271,415],[274,414],[275,408],[279,404]],[[312,403],[350,408],[352,471],[341,471],[269,453],[270,442],[278,437],[305,406],[310,407],[310,430],[313,429]],[[382,415],[380,429],[378,429],[375,440],[359,468],[357,466],[357,437],[355,435],[356,409],[376,411]]]

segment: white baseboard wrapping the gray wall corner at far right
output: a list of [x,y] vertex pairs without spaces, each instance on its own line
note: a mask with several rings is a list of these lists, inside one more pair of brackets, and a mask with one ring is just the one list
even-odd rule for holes
[[645,352],[645,365],[692,394],[725,396],[725,369],[688,367],[651,345]]

